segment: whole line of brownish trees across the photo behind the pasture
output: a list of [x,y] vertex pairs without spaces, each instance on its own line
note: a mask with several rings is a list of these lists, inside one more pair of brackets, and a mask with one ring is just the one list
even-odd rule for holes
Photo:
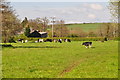
[[[112,14],[111,23],[103,23],[96,31],[84,32],[82,29],[71,30],[66,27],[64,20],[56,20],[54,22],[54,37],[119,37],[119,25],[118,25],[118,14],[119,14],[119,2],[109,2],[109,10]],[[11,38],[23,32],[25,36],[28,36],[31,30],[39,30],[41,32],[47,32],[49,37],[52,37],[52,25],[51,20],[47,17],[36,18],[36,19],[25,19],[21,22],[18,19],[15,10],[10,5],[10,2],[0,0],[0,16],[1,20],[1,32],[2,42],[9,42]]]

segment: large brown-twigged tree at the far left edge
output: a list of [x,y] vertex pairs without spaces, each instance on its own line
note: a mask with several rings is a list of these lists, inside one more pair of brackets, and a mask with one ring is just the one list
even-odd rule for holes
[[10,37],[13,37],[20,32],[22,27],[20,26],[20,20],[17,18],[17,15],[9,2],[1,0],[0,7],[2,8],[0,10],[2,13],[2,41],[6,43],[9,41]]

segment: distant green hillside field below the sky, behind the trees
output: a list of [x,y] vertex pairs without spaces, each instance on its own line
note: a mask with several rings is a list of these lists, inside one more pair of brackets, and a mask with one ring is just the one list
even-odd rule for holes
[[98,29],[102,23],[89,23],[89,24],[70,24],[66,25],[69,29],[81,28],[84,31],[96,30]]

